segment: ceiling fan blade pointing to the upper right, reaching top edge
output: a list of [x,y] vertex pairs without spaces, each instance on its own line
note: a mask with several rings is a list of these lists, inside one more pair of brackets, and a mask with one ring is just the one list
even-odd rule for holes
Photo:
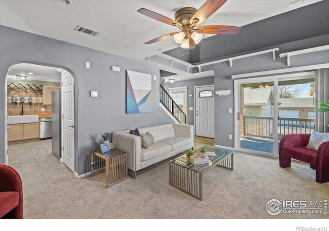
[[216,10],[220,9],[226,1],[227,0],[208,0],[194,13],[190,19],[190,24],[192,25],[195,19],[198,20],[196,25],[204,22]]

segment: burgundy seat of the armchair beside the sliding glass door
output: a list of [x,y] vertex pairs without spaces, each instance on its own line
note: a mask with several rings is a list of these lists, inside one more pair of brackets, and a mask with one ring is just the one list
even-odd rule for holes
[[317,152],[305,147],[285,147],[282,149],[282,155],[316,165]]

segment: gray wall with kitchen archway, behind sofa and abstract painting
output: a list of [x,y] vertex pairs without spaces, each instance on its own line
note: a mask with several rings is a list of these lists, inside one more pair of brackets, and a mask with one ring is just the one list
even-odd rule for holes
[[[89,152],[101,143],[100,132],[172,123],[159,107],[160,71],[153,65],[5,26],[0,26],[0,40],[0,164],[5,163],[5,79],[9,67],[17,63],[61,67],[74,76],[78,175],[90,171]],[[90,69],[85,62],[90,62]],[[110,71],[112,65],[121,71]],[[152,113],[125,114],[125,70],[152,74]],[[90,98],[90,90],[97,90],[98,98]]]

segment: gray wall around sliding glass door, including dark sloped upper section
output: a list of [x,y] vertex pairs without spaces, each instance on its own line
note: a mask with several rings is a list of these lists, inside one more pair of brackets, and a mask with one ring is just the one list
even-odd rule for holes
[[[237,34],[205,38],[196,45],[196,49],[191,50],[190,62],[198,64],[280,48],[275,61],[272,54],[268,53],[233,61],[233,67],[228,62],[202,67],[202,71],[215,71],[215,90],[231,90],[226,97],[215,97],[215,144],[234,147],[234,140],[228,139],[228,134],[234,134],[234,114],[227,113],[228,108],[234,108],[234,82],[231,75],[287,68],[286,58],[280,58],[280,53],[328,45],[328,12],[329,1],[322,1],[243,26]],[[181,59],[179,49],[167,53]],[[329,63],[328,51],[293,56],[290,67],[323,63]]]

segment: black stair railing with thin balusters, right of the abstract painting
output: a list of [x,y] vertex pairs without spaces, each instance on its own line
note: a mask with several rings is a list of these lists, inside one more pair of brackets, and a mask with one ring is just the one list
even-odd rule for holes
[[186,124],[186,114],[180,109],[169,93],[160,85],[160,103],[173,115],[181,124]]

